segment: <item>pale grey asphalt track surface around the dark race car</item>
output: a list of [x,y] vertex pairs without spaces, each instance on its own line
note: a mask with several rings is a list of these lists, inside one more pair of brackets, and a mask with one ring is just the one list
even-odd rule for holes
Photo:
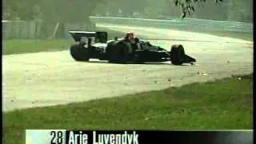
[[[253,72],[253,42],[178,30],[98,26],[158,38],[150,42],[168,50],[182,44],[186,54],[198,62],[194,66],[170,62],[118,65],[94,59],[75,62],[68,50],[4,55],[3,110],[109,98]],[[172,40],[160,40],[166,38]]]

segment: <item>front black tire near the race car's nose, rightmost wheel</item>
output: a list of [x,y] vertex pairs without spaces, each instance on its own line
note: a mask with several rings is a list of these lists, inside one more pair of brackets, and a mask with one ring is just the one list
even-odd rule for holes
[[182,45],[174,45],[170,48],[170,61],[173,65],[182,65],[185,58],[185,50]]

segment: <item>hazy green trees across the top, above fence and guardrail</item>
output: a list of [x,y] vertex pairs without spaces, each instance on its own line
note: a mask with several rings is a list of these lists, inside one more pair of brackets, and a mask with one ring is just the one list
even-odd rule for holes
[[252,0],[3,0],[5,19],[88,22],[90,15],[252,22]]

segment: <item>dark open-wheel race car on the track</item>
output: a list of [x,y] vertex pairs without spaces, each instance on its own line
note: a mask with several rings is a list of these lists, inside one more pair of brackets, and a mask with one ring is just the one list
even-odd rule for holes
[[116,37],[109,41],[105,31],[70,31],[70,34],[77,42],[70,46],[70,54],[76,61],[89,62],[91,58],[123,64],[170,61],[173,65],[196,62],[195,58],[185,54],[182,45],[173,45],[167,51],[138,38],[130,41],[132,33],[126,34],[125,38]]

